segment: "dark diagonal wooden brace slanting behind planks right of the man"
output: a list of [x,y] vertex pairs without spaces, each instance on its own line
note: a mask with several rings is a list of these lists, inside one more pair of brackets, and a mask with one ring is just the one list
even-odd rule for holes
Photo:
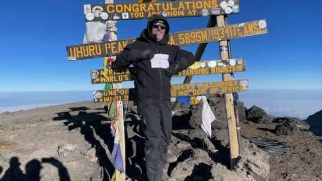
[[[211,28],[211,27],[215,27],[216,26],[216,18],[215,16],[210,16],[208,24],[207,24],[207,28]],[[203,52],[205,51],[206,47],[207,47],[208,43],[200,43],[198,45],[198,49],[195,53],[195,60],[196,61],[200,61],[201,57],[203,55]],[[190,83],[190,81],[192,80],[192,76],[186,76],[183,83]],[[174,114],[178,108],[180,107],[181,102],[176,101],[174,103],[174,105],[172,106],[172,114]]]

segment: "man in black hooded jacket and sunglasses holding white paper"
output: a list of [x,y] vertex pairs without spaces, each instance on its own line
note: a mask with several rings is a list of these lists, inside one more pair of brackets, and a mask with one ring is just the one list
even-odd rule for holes
[[153,15],[137,40],[116,57],[113,69],[136,68],[137,112],[145,129],[145,166],[149,180],[162,180],[171,140],[171,76],[194,63],[192,53],[168,45],[167,19]]

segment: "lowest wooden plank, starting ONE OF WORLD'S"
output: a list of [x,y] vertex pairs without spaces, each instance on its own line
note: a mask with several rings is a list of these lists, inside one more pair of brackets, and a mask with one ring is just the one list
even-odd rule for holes
[[[171,97],[201,96],[209,94],[228,94],[248,91],[248,79],[230,81],[212,81],[198,83],[183,83],[171,85]],[[114,89],[109,92],[94,91],[95,103],[117,100],[134,100],[134,88]]]

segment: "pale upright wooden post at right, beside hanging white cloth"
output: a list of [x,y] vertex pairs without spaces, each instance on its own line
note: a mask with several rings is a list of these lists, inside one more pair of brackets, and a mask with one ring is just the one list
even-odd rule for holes
[[[224,16],[219,15],[217,18],[218,27],[225,26]],[[219,41],[219,47],[224,51],[220,51],[220,59],[229,59],[228,51],[225,51],[228,48],[227,41]],[[222,74],[222,79],[224,81],[231,80],[230,73]],[[236,118],[234,114],[233,107],[233,97],[232,94],[225,94],[225,109],[227,117],[227,126],[228,126],[228,137],[229,137],[229,149],[230,149],[230,169],[236,165],[236,158],[239,156],[239,148],[237,141],[237,132],[236,132]]]

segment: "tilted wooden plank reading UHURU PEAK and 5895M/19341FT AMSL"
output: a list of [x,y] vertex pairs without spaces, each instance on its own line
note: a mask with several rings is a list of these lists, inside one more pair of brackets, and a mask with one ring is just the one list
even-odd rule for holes
[[[194,45],[241,38],[267,33],[266,20],[259,20],[226,27],[213,27],[170,34],[169,44],[178,46]],[[135,38],[67,46],[67,59],[79,60],[95,57],[105,57],[119,54],[126,45],[133,43]]]

